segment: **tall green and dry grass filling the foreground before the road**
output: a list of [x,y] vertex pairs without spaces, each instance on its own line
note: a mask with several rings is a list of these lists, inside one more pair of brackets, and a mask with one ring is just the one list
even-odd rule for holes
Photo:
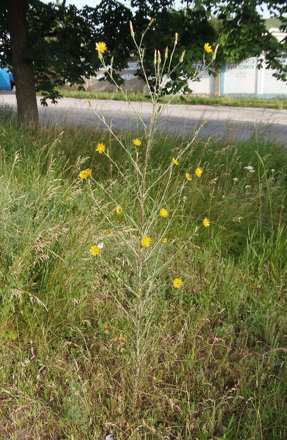
[[[117,229],[106,234],[110,198],[78,178],[91,168],[136,218],[129,186],[95,146],[109,146],[124,173],[128,157],[99,130],[21,132],[11,116],[1,109],[0,439],[286,439],[286,149],[256,136],[197,139],[173,170],[171,195],[186,171],[193,180],[158,258],[199,230],[156,279],[156,343],[134,401],[120,288],[132,271]],[[156,138],[150,182],[187,140]],[[92,258],[101,241],[103,257]]]

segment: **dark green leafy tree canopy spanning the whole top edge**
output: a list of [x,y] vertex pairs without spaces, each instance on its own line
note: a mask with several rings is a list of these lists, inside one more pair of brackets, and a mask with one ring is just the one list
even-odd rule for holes
[[[240,62],[250,56],[265,55],[267,67],[276,69],[276,76],[287,81],[286,39],[279,42],[266,31],[265,21],[259,13],[259,0],[189,0],[182,1],[176,10],[172,0],[132,0],[132,10],[117,0],[102,0],[96,7],[78,10],[74,5],[43,3],[40,0],[17,0],[25,3],[28,23],[28,42],[23,60],[33,62],[37,90],[43,91],[42,104],[60,97],[59,88],[70,84],[84,85],[83,77],[94,75],[100,62],[95,50],[97,42],[105,42],[107,65],[113,57],[113,68],[120,71],[134,53],[129,21],[132,20],[136,36],[140,38],[151,19],[145,38],[147,76],[153,77],[154,50],[162,54],[173,47],[175,33],[178,44],[175,65],[185,50],[184,62],[170,78],[169,89],[181,87],[180,79],[192,78],[194,64],[202,59],[203,45],[220,44],[216,66],[222,62]],[[13,69],[7,5],[0,0],[0,64]],[[287,30],[287,3],[268,0],[265,7],[272,17],[279,17],[281,29]],[[259,67],[261,64],[259,63]],[[138,71],[142,77],[143,72]],[[113,75],[114,76],[114,75]],[[118,83],[122,79],[117,75]],[[16,84],[17,90],[17,84]],[[167,91],[167,90],[165,90]],[[165,92],[163,90],[163,92]]]

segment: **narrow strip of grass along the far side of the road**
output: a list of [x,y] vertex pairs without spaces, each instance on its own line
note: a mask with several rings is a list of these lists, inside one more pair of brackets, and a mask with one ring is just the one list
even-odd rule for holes
[[[79,90],[61,90],[61,93],[66,98],[77,99],[110,99],[114,101],[125,101],[125,97],[120,92],[104,92],[104,91],[79,91]],[[128,98],[131,101],[149,102],[150,99],[146,97],[145,93],[129,92]],[[193,94],[185,95],[185,101],[182,101],[179,96],[173,100],[173,104],[189,104],[189,105],[204,105],[204,106],[225,106],[225,107],[257,107],[263,109],[287,109],[287,98],[243,98],[243,97],[228,97],[228,96],[211,96],[200,97]],[[163,96],[162,102],[168,102],[170,96]]]

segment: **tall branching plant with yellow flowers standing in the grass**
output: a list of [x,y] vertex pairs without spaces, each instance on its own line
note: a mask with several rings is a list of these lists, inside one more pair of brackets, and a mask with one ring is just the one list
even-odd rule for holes
[[[141,35],[139,43],[136,42],[135,34],[130,22],[131,35],[134,41],[139,63],[145,71],[145,56],[143,39],[145,33],[148,31],[153,20],[145,32]],[[182,199],[183,190],[187,185],[194,184],[195,179],[202,178],[203,169],[199,166],[194,170],[183,170],[178,176],[180,163],[184,159],[184,155],[192,149],[194,140],[199,130],[204,126],[204,121],[196,131],[192,139],[182,147],[174,157],[170,158],[170,164],[157,172],[153,172],[153,162],[151,160],[151,149],[155,145],[156,126],[159,116],[163,113],[167,104],[158,104],[160,96],[160,85],[166,80],[163,72],[168,67],[168,74],[172,74],[171,61],[175,54],[177,46],[177,34],[175,36],[174,46],[170,51],[168,47],[165,53],[162,54],[155,50],[154,69],[157,87],[150,87],[149,80],[146,77],[146,84],[148,93],[152,101],[152,109],[149,121],[145,121],[138,110],[129,101],[123,88],[119,87],[119,91],[126,97],[132,111],[137,115],[142,131],[137,137],[131,140],[122,138],[112,130],[110,124],[97,111],[93,110],[96,116],[105,124],[110,136],[113,137],[118,144],[118,147],[123,149],[128,157],[129,169],[123,170],[121,166],[112,158],[110,149],[100,142],[96,146],[96,153],[101,157],[106,156],[116,171],[117,175],[125,182],[129,191],[130,204],[124,198],[122,192],[113,192],[110,186],[106,187],[104,184],[93,179],[91,169],[81,171],[79,177],[88,179],[88,184],[91,188],[91,195],[94,201],[97,200],[94,196],[94,191],[91,187],[91,182],[100,187],[100,189],[109,197],[111,210],[110,213],[103,210],[103,217],[109,230],[105,241],[112,240],[116,243],[120,240],[121,254],[123,255],[126,267],[129,270],[129,276],[119,279],[117,276],[112,279],[117,285],[117,290],[120,288],[120,296],[116,296],[115,300],[125,310],[126,314],[131,320],[131,345],[133,351],[133,367],[132,367],[132,382],[133,395],[136,400],[141,390],[141,382],[144,380],[144,371],[151,365],[151,352],[155,347],[151,331],[154,325],[154,317],[158,299],[157,280],[161,274],[170,266],[171,262],[177,257],[183,246],[189,242],[194,234],[197,233],[200,227],[200,221],[196,224],[194,229],[190,232],[187,242],[179,243],[169,253],[167,257],[167,247],[174,246],[169,241],[169,232],[174,220],[177,218],[177,212]],[[110,80],[113,80],[112,59],[111,66],[105,63],[106,44],[101,42],[96,44],[98,56],[104,68],[110,74]],[[206,43],[203,50],[210,56],[210,61],[207,67],[213,62],[216,55],[216,49],[213,51],[212,47]],[[178,65],[183,61],[185,51],[181,54]],[[197,79],[197,72],[194,79]],[[182,87],[182,89],[184,86]],[[180,92],[180,91],[179,91]],[[172,101],[171,97],[169,103]],[[89,101],[89,106],[92,104]],[[174,190],[174,185],[171,182],[175,176],[178,178],[177,189]],[[193,182],[191,183],[191,181]],[[131,206],[132,205],[132,206]],[[199,220],[199,219],[198,219]],[[205,217],[201,219],[201,226],[208,228],[211,221]],[[105,257],[104,242],[100,244],[91,243],[90,254],[95,258],[101,258],[105,264],[109,265]],[[103,249],[102,249],[103,248]],[[111,269],[112,271],[113,269]],[[117,275],[117,274],[115,274]],[[183,275],[180,273],[170,273],[169,281],[166,281],[165,288],[170,285],[171,288],[184,288]]]

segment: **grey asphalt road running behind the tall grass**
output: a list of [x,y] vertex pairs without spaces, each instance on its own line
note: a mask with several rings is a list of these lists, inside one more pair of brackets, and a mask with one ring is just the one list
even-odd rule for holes
[[[40,103],[40,98],[38,98]],[[13,93],[0,95],[0,103],[16,106]],[[95,114],[104,116],[114,131],[137,131],[138,116],[124,101],[88,100],[63,98],[58,104],[49,104],[43,108],[39,104],[39,116],[43,124],[65,123],[89,128],[105,128],[105,124]],[[144,122],[148,123],[152,105],[150,103],[132,103]],[[191,134],[203,120],[207,123],[200,129],[199,136],[223,137],[232,142],[246,140],[254,133],[258,137],[268,136],[287,146],[287,110],[251,109],[232,107],[209,107],[169,105],[158,119],[158,130],[172,134]],[[139,128],[140,130],[140,128]]]

